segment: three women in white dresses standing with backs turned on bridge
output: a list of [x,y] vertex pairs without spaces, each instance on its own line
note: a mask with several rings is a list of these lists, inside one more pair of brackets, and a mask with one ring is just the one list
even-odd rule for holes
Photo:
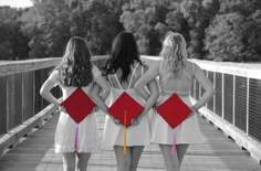
[[[91,55],[87,45],[83,42],[79,38],[69,41],[61,65],[41,88],[43,97],[60,106],[60,101],[50,93],[53,86],[59,85],[62,88],[63,99],[69,97],[75,87],[82,87],[107,114],[107,106],[104,101],[108,95],[108,87],[111,87],[111,105],[123,92],[126,92],[144,106],[144,110],[133,119],[132,126],[127,128],[126,154],[123,153],[123,126],[112,116],[106,117],[103,146],[114,148],[117,170],[136,171],[144,146],[154,142],[160,147],[166,170],[178,171],[189,145],[202,141],[195,114],[213,94],[212,85],[200,67],[187,61],[186,42],[182,35],[169,32],[163,43],[160,61],[148,68],[139,58],[133,34],[119,33],[114,41],[112,54],[103,70],[103,76],[90,62]],[[157,76],[159,76],[160,90],[155,81]],[[197,79],[205,89],[203,96],[195,105],[189,99],[192,79]],[[145,85],[147,85],[147,89]],[[160,94],[159,98],[158,94]],[[163,104],[171,94],[177,94],[194,111],[175,129],[171,129],[156,111],[150,110],[155,104],[156,106]],[[152,113],[150,118],[149,113]],[[80,135],[83,139],[77,151],[73,148],[74,132],[72,129],[74,125],[75,122],[69,115],[62,111],[55,132],[55,151],[63,154],[64,170],[73,170],[77,156],[80,159],[77,168],[84,171],[91,152],[98,148],[95,117],[90,115],[83,124],[81,122]],[[174,133],[176,135],[176,152],[171,154]]]

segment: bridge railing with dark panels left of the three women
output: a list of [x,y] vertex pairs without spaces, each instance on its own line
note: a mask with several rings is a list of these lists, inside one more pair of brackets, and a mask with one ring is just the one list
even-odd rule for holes
[[[41,127],[52,105],[39,90],[60,58],[0,62],[0,156],[34,127]],[[60,96],[60,89],[53,89]]]

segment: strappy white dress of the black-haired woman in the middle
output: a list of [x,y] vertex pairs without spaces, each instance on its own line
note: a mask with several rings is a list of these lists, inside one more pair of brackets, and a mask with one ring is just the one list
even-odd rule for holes
[[[142,106],[145,105],[145,100],[137,94],[136,90],[130,88],[132,81],[134,73],[137,68],[133,70],[133,75],[129,81],[129,85],[127,89],[123,89],[122,85],[117,78],[116,75],[109,75],[108,77],[115,78],[118,86],[118,88],[111,87],[111,101],[109,106],[122,95],[122,93],[127,93],[129,96],[132,96],[135,100],[137,100]],[[112,82],[111,82],[112,83]],[[144,115],[136,126],[129,126],[127,128],[127,147],[133,146],[147,146],[150,143],[150,131],[149,131],[149,117],[148,115]],[[105,149],[112,149],[114,146],[123,146],[124,145],[124,127],[122,125],[115,125],[114,121],[106,116],[105,126],[104,126],[104,132],[103,132],[103,139],[102,139],[102,146]]]

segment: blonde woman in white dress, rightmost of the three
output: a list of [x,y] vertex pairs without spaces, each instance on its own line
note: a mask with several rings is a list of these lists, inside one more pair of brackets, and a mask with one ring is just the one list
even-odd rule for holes
[[[189,145],[202,142],[198,118],[195,114],[212,97],[215,90],[201,68],[197,64],[187,61],[186,41],[181,34],[167,33],[160,57],[160,62],[143,75],[136,83],[135,88],[142,94],[145,92],[144,85],[159,76],[160,97],[157,106],[173,94],[177,94],[194,111],[175,129],[169,127],[158,114],[152,116],[152,142],[159,145],[165,159],[166,170],[178,171]],[[191,104],[189,98],[192,79],[197,79],[205,89],[203,96],[195,105]],[[174,133],[176,135],[176,152],[171,154]]]

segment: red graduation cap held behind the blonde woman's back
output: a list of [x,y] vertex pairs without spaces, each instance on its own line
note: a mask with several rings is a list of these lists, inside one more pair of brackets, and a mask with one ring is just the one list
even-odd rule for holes
[[177,94],[171,95],[156,109],[173,129],[192,113],[192,110],[178,97]]

